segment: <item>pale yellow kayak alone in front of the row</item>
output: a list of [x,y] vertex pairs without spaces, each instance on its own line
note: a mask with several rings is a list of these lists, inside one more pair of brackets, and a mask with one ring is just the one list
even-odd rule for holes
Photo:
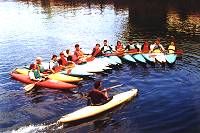
[[86,106],[75,112],[67,114],[67,115],[61,117],[58,120],[58,123],[74,122],[74,121],[83,120],[83,119],[98,115],[98,114],[103,113],[107,110],[110,110],[120,104],[130,101],[134,96],[137,95],[137,93],[138,93],[137,89],[131,89],[129,91],[119,93],[119,94],[113,96],[113,98],[109,102],[107,102],[103,105]]

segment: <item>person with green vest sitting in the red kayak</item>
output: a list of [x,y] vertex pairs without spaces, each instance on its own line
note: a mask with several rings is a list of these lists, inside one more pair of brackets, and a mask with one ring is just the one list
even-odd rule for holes
[[35,81],[43,81],[48,76],[48,74],[42,74],[36,64],[31,64],[29,67],[30,71],[28,73],[29,78]]

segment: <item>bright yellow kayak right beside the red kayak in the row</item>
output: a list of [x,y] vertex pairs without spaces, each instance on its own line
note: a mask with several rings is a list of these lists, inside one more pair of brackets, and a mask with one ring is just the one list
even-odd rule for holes
[[[15,69],[15,72],[20,73],[22,75],[28,75],[29,70],[25,68],[17,68]],[[63,82],[79,82],[83,80],[82,78],[79,78],[79,77],[73,77],[73,76],[64,75],[61,73],[50,74],[48,78],[63,81]]]

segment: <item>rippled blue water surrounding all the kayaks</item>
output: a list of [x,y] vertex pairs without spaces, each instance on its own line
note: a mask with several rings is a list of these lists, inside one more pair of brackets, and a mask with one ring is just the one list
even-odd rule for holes
[[[200,132],[200,3],[197,0],[136,1],[2,1],[0,2],[0,131],[2,132]],[[98,119],[58,126],[63,115],[86,105],[68,92],[38,89],[25,94],[23,84],[10,78],[16,67],[41,56],[72,49],[89,51],[96,43],[134,38],[140,42],[171,36],[182,59],[173,67],[146,68],[123,64],[97,75],[104,86],[124,84],[111,95],[139,89],[130,103]],[[87,92],[93,80],[82,82]]]

